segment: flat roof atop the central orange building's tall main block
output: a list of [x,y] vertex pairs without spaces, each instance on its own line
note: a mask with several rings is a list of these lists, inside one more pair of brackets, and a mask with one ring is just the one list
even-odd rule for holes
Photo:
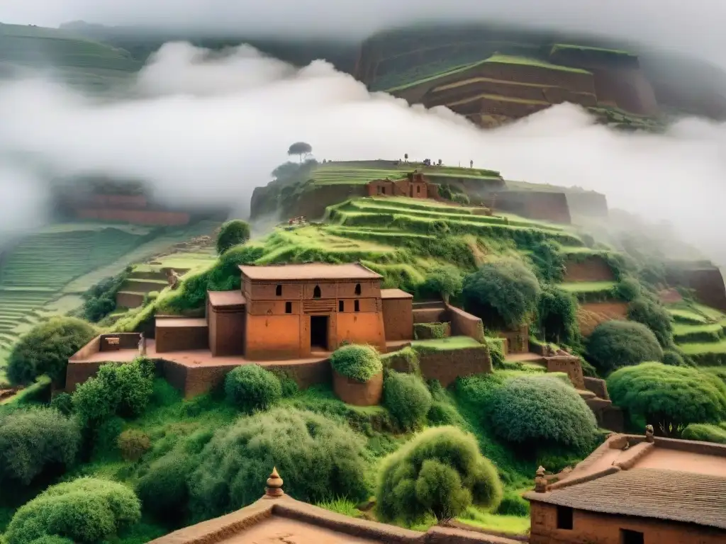
[[295,281],[314,279],[381,279],[378,273],[358,263],[331,265],[308,263],[303,265],[240,265],[242,275],[249,279],[268,281]]

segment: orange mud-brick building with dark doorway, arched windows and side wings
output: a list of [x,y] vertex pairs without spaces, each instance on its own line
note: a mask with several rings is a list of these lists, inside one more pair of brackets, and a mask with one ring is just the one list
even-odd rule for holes
[[[346,342],[386,353],[387,340],[412,338],[412,295],[381,289],[382,276],[363,265],[240,266],[240,273],[241,289],[208,293],[198,331],[183,318],[158,319],[156,353],[208,346],[213,357],[290,360]],[[198,345],[189,345],[195,336]]]

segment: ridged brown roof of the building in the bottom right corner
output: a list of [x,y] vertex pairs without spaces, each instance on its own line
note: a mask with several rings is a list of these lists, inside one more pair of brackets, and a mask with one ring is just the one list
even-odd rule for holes
[[726,445],[666,438],[649,443],[616,434],[560,474],[547,492],[524,496],[601,514],[726,529]]

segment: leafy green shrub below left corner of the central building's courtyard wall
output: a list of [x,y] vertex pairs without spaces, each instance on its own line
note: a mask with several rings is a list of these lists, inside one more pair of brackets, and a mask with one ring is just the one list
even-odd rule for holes
[[73,407],[84,424],[99,424],[111,416],[139,416],[154,392],[154,363],[137,358],[107,364],[73,393]]

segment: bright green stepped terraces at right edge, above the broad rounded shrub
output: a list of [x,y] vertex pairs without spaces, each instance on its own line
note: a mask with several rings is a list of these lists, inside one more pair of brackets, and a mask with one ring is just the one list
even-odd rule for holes
[[726,314],[695,302],[668,305],[676,345],[699,365],[726,365]]

